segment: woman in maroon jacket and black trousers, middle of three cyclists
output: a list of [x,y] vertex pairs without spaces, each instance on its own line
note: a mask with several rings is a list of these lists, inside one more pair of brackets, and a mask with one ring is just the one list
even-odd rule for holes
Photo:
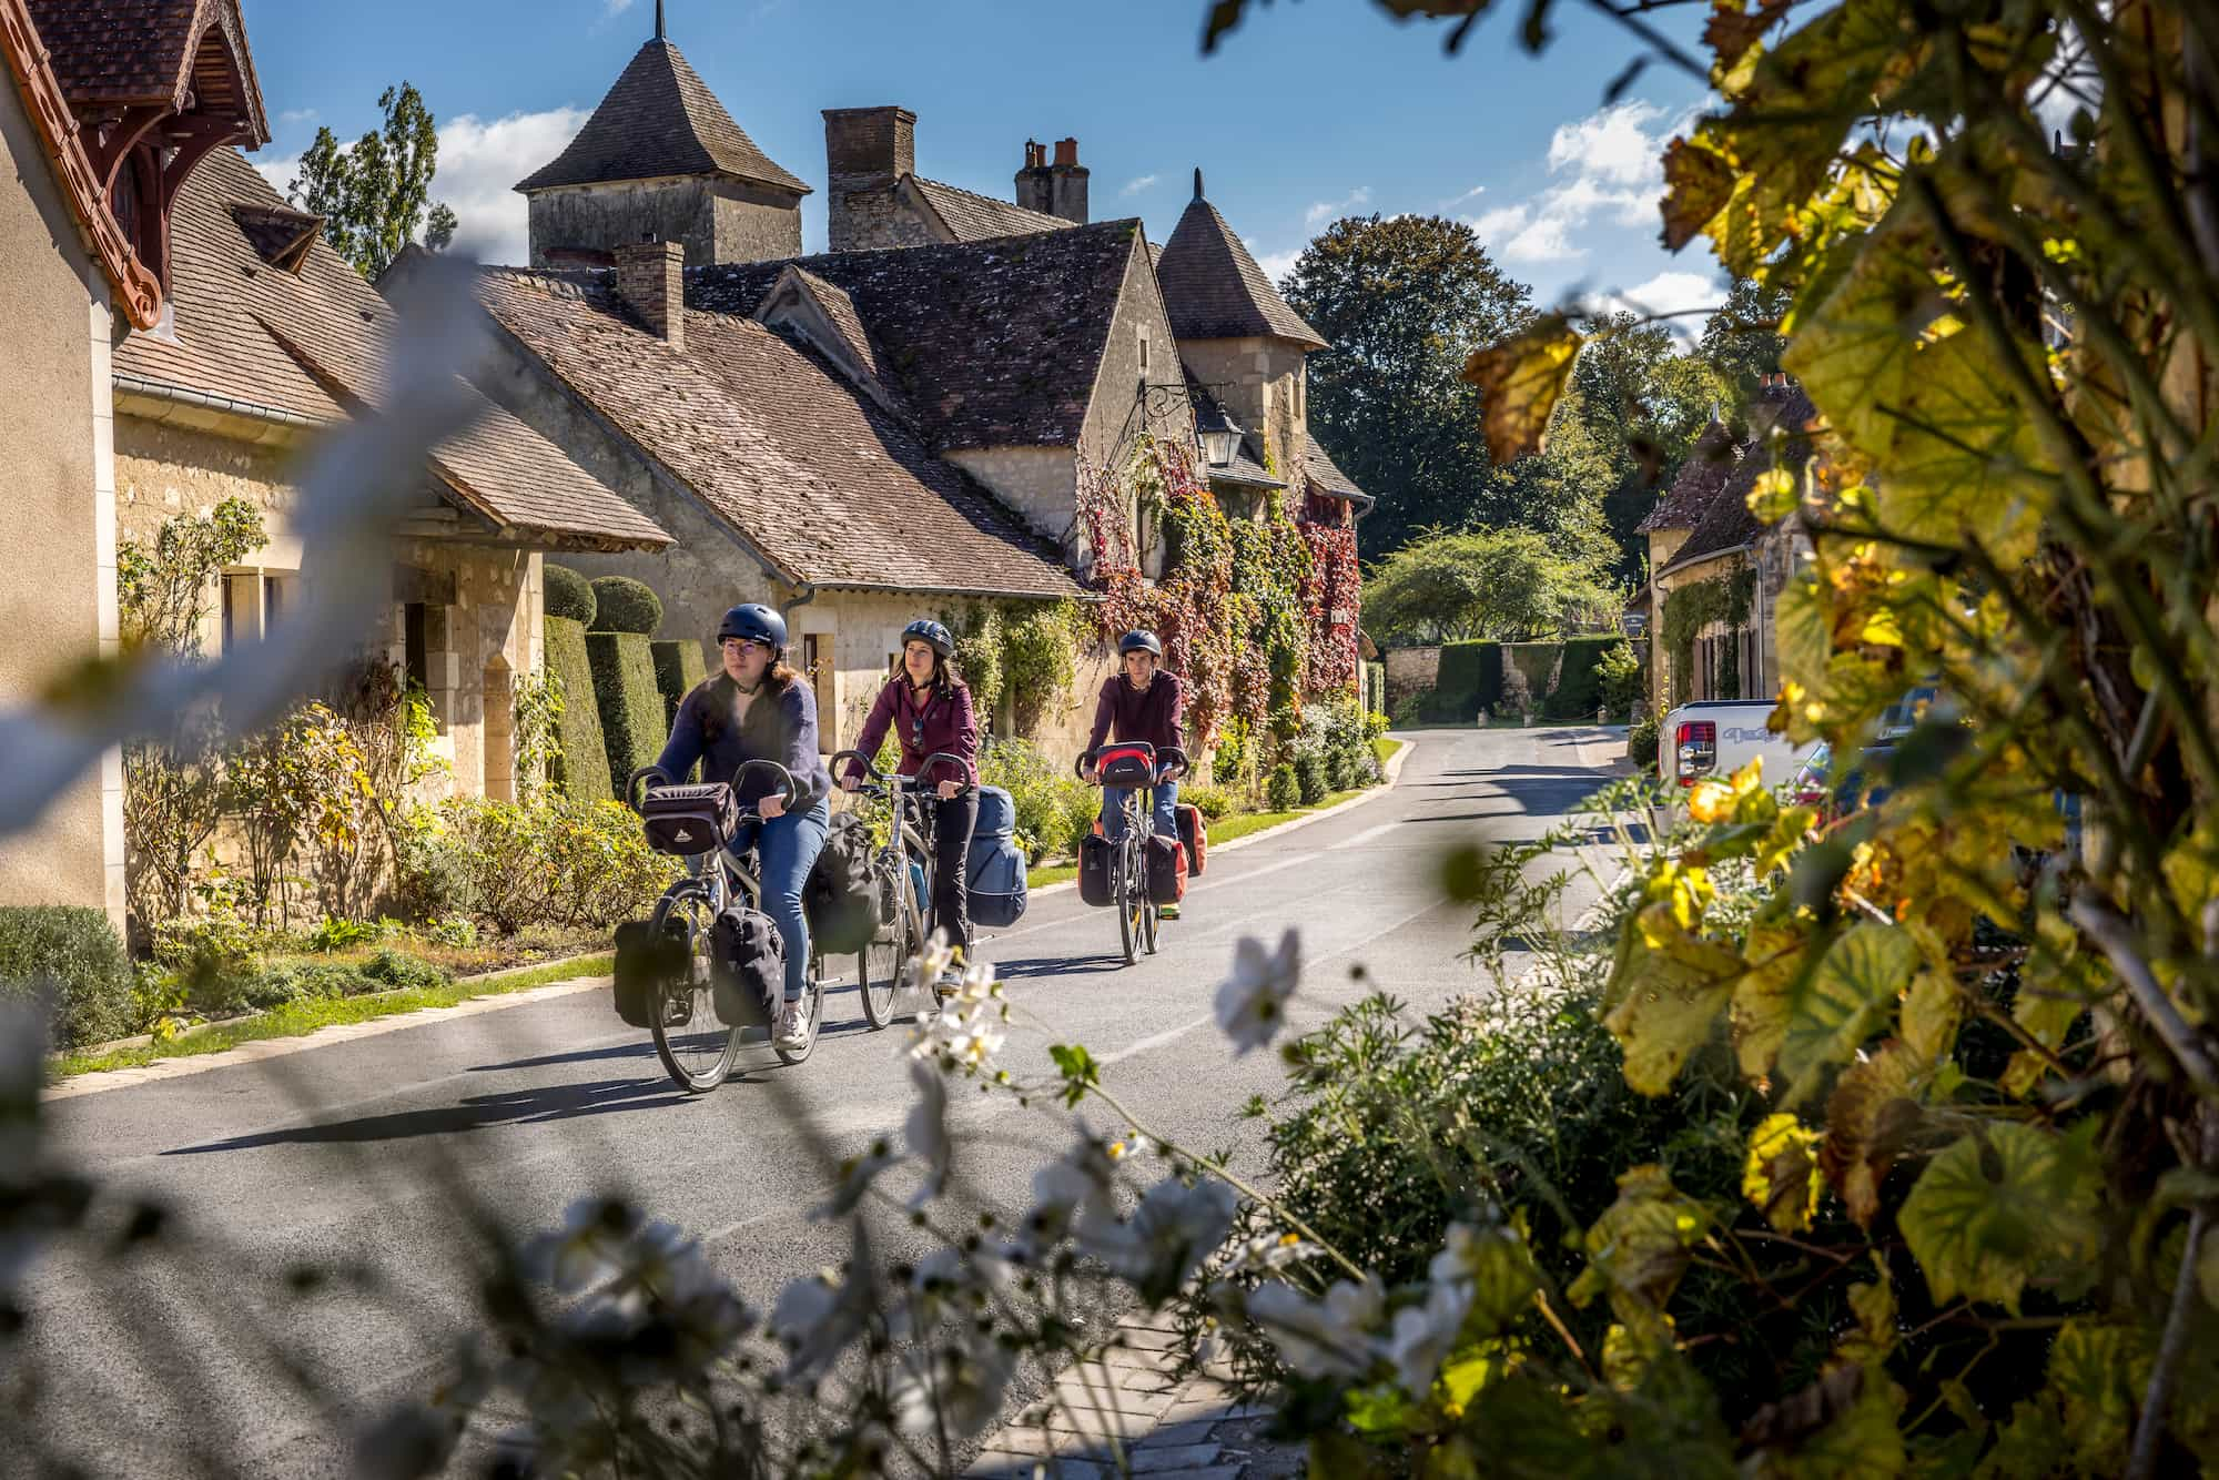
[[[963,757],[965,774],[928,777],[934,781],[932,805],[932,930],[970,959],[970,839],[979,825],[979,719],[972,712],[970,686],[954,666],[956,639],[939,621],[921,619],[901,630],[901,672],[885,681],[879,701],[870,706],[863,732],[854,737],[861,754],[877,757],[879,743],[892,730],[901,743],[903,777],[923,770],[930,754]],[[945,761],[941,763],[945,768]],[[850,792],[863,772],[854,761],[839,779]],[[943,983],[959,981],[950,972]]]

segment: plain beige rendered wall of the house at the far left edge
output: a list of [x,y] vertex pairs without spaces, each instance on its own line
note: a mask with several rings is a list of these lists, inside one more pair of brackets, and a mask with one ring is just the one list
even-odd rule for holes
[[[0,703],[115,652],[115,481],[109,348],[115,317],[20,93],[0,87],[0,468],[9,475],[9,641]],[[0,839],[0,905],[87,905],[122,927],[122,759],[102,757]]]

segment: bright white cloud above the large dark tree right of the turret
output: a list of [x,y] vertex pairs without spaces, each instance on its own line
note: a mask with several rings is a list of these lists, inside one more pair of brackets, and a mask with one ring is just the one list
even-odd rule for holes
[[1686,122],[1633,100],[1560,124],[1549,140],[1553,184],[1531,200],[1482,211],[1471,229],[1507,262],[1575,262],[1589,253],[1580,237],[1595,226],[1655,226],[1664,144]]

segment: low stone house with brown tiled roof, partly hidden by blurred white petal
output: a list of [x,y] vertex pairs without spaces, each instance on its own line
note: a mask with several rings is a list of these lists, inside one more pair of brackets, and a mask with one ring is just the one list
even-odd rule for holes
[[[169,313],[115,346],[118,533],[149,544],[164,519],[226,497],[264,513],[268,541],[220,577],[204,648],[222,652],[297,599],[291,464],[322,428],[377,404],[393,311],[322,220],[286,206],[235,149],[184,180],[169,233]],[[424,690],[453,790],[508,799],[513,683],[541,668],[544,553],[661,550],[670,535],[524,422],[464,395],[473,422],[426,462],[366,648]]]

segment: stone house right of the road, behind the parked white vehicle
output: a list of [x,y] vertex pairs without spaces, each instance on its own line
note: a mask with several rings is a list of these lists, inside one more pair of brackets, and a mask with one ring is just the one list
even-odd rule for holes
[[[1817,417],[1811,397],[1789,375],[1769,375],[1749,413],[1749,433],[1735,437],[1711,422],[1695,439],[1671,488],[1638,526],[1649,544],[1649,584],[1640,599],[1651,637],[1649,703],[1664,712],[1693,699],[1771,699],[1780,692],[1780,650],[1773,612],[1789,575],[1808,557],[1808,539],[1793,526],[1766,526],[1749,513],[1757,475],[1769,468],[1802,473],[1811,459],[1804,430]],[[1664,606],[1698,581],[1751,581],[1744,624],[1709,621],[1695,632],[1686,672],[1671,672]]]

